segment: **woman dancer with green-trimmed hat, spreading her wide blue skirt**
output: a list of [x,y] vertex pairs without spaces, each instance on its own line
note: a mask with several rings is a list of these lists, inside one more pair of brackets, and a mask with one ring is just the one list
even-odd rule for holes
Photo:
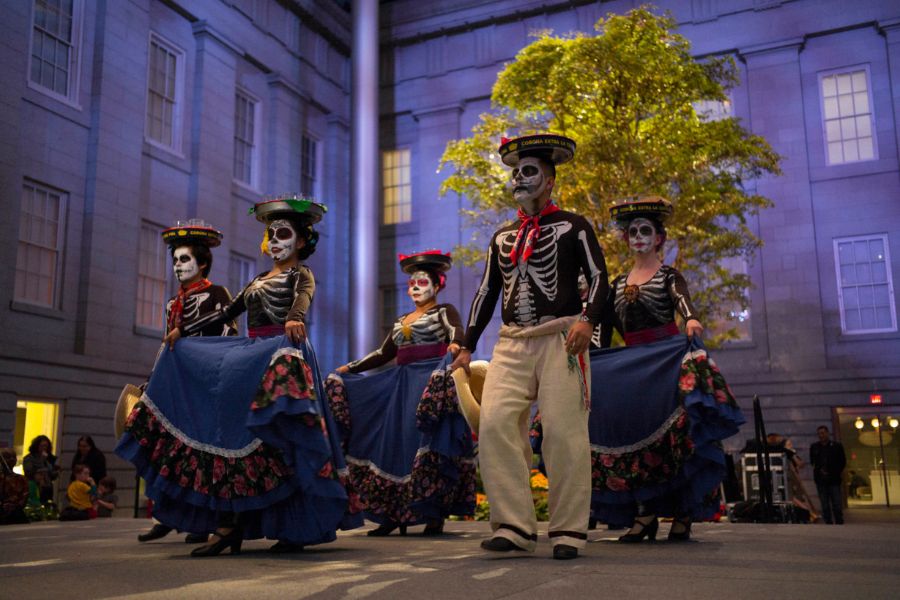
[[[362,524],[304,318],[315,291],[301,261],[325,207],[285,196],[254,207],[272,269],[224,308],[173,329],[116,452],[133,462],[164,525],[215,530],[192,556],[277,539],[289,552]],[[250,338],[185,339],[247,312]],[[139,405],[140,406],[140,405]]]

